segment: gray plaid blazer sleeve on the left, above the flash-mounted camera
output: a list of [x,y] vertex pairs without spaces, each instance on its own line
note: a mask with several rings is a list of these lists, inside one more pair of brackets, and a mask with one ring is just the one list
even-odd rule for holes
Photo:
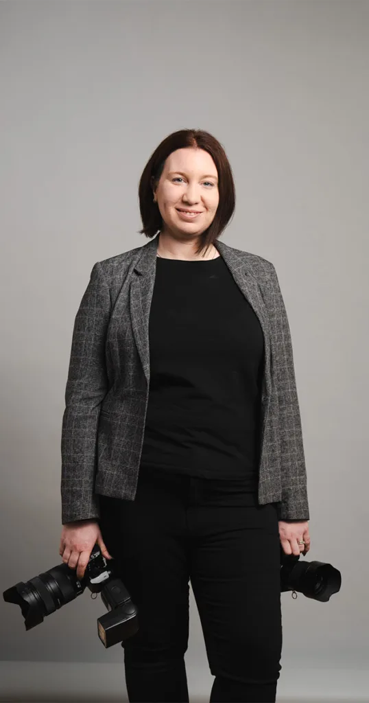
[[72,334],[61,436],[62,524],[99,517],[98,496],[93,487],[98,418],[108,392],[105,337],[109,320],[110,292],[97,262]]

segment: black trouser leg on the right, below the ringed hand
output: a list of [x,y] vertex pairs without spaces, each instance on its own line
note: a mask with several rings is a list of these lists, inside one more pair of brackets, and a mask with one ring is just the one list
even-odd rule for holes
[[[280,676],[280,538],[276,506],[202,498],[190,581],[207,658],[211,703],[274,703]],[[240,499],[240,496],[239,496]]]

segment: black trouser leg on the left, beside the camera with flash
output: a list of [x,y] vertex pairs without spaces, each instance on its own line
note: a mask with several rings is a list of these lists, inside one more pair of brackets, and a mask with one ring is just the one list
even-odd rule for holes
[[181,498],[169,480],[147,474],[140,474],[135,501],[100,498],[103,539],[138,608],[138,632],[122,642],[129,701],[188,703],[189,574]]

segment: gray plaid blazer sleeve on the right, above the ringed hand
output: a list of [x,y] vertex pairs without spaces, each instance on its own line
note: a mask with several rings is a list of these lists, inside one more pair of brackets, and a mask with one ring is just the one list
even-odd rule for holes
[[282,500],[279,520],[309,520],[302,422],[297,396],[290,325],[276,269],[269,280],[273,390],[278,397]]

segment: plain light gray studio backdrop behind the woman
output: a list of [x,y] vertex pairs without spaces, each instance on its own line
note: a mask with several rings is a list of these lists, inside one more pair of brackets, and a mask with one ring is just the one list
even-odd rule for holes
[[[369,699],[368,2],[18,1],[0,22],[1,592],[60,563],[64,391],[91,268],[148,241],[137,186],[157,143],[207,129],[235,175],[223,239],[271,260],[285,297],[307,558],[343,579],[328,603],[282,595],[279,696]],[[89,595],[27,633],[1,600],[3,699],[124,695],[123,650],[104,649]],[[206,700],[193,600],[190,627],[190,692]]]

